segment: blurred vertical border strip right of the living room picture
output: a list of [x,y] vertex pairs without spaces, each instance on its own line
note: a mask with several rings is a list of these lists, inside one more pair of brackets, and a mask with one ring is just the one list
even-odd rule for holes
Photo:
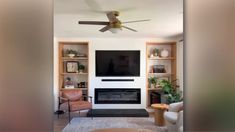
[[184,4],[184,130],[235,131],[235,1]]

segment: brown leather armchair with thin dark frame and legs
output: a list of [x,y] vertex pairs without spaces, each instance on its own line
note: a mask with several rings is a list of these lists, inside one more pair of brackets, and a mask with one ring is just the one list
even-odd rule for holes
[[[84,100],[84,97],[87,98],[87,101]],[[58,108],[59,110],[68,111],[69,123],[70,112],[79,111],[80,113],[81,110],[91,110],[91,118],[93,118],[92,97],[83,95],[80,89],[61,90]]]

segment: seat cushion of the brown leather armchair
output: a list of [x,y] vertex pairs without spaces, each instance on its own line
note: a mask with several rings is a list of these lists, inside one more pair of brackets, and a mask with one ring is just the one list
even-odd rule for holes
[[[70,111],[79,111],[79,110],[87,110],[91,109],[92,104],[88,101],[74,101],[70,102]],[[68,111],[68,103],[62,103],[60,105],[60,109],[64,111]]]

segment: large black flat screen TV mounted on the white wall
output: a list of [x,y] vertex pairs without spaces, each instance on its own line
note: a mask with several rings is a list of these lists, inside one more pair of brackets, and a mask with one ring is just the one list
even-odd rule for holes
[[96,76],[140,76],[140,51],[96,50]]

